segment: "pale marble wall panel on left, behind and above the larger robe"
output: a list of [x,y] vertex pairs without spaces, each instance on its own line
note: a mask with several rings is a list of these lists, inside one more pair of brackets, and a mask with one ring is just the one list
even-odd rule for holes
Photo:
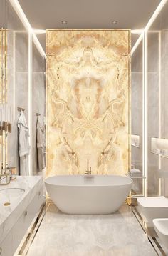
[[28,118],[28,34],[14,9],[8,3],[8,59],[7,87],[8,105],[11,107],[13,123],[9,134],[8,164],[17,168],[19,173],[18,129],[19,112],[17,107],[26,109]]

